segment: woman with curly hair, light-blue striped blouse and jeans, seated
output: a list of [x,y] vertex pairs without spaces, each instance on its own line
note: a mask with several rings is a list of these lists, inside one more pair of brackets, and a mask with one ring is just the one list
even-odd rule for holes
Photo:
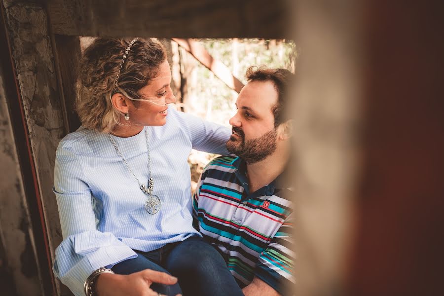
[[84,53],[82,127],[57,148],[54,185],[54,273],[75,295],[242,295],[192,227],[187,164],[191,148],[226,153],[230,131],[168,108],[170,82],[155,39],[99,38]]

